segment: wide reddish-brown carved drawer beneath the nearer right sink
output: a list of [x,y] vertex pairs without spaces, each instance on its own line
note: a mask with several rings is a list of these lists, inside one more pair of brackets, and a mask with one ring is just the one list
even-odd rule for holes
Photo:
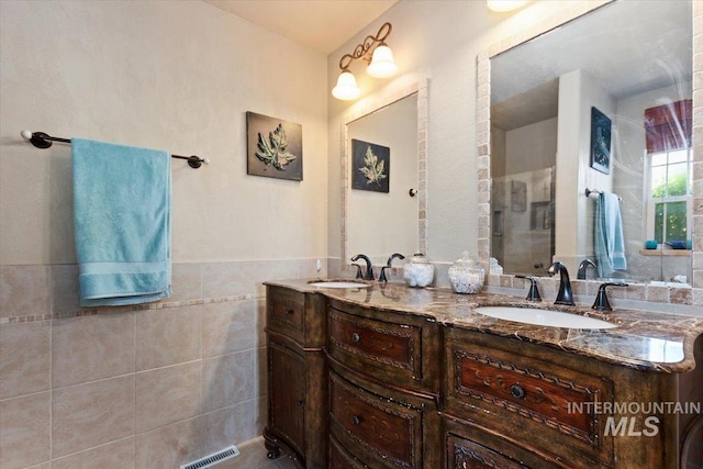
[[531,344],[505,350],[500,348],[505,342],[511,340],[448,331],[447,412],[544,451],[557,450],[554,442],[562,440],[587,466],[610,464],[612,439],[603,438],[593,403],[612,400],[613,383],[568,368],[565,354]]

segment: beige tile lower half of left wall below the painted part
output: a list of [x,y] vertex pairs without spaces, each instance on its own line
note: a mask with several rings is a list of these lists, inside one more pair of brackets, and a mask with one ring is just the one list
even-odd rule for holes
[[259,436],[261,282],[314,264],[176,264],[171,298],[100,310],[76,266],[0,267],[0,467],[170,469]]

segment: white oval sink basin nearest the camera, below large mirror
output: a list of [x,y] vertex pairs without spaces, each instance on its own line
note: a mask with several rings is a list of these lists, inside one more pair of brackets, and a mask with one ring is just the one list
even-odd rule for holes
[[514,321],[516,323],[535,324],[539,326],[567,328],[617,327],[616,324],[596,320],[595,317],[585,317],[578,314],[562,313],[560,311],[538,310],[536,308],[480,306],[475,311],[498,320]]

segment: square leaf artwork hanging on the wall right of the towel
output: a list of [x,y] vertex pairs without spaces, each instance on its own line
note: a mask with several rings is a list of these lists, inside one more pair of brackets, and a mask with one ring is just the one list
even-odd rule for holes
[[302,125],[247,111],[246,174],[303,180]]

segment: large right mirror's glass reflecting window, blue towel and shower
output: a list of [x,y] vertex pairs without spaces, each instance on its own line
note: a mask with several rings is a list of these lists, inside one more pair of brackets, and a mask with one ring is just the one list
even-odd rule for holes
[[690,282],[691,45],[690,1],[623,1],[491,57],[505,273]]

